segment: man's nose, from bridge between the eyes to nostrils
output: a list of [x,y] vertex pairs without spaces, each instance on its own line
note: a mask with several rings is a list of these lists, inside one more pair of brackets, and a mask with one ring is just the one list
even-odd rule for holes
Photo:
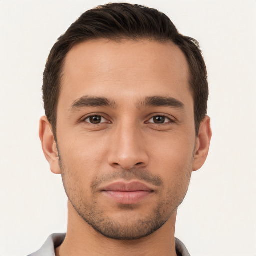
[[149,157],[146,139],[136,125],[122,125],[115,129],[110,142],[108,164],[114,168],[146,167]]

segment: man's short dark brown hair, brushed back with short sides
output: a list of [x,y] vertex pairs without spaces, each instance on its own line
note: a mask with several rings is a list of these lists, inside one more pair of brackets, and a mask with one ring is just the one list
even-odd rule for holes
[[56,139],[57,103],[61,72],[67,52],[77,43],[106,38],[172,41],[185,54],[189,65],[189,86],[194,101],[195,132],[207,113],[208,82],[206,66],[198,42],[178,32],[162,12],[142,5],[109,3],[84,12],[53,45],[43,73],[45,114]]

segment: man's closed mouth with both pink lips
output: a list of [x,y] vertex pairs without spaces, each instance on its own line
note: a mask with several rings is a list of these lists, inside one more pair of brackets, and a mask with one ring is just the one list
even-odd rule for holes
[[129,183],[114,182],[103,187],[101,191],[109,199],[121,204],[137,203],[154,192],[147,185],[136,181]]

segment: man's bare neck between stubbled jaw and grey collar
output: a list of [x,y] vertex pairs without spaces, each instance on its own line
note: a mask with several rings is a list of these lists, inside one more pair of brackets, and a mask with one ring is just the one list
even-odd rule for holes
[[56,248],[56,256],[176,256],[175,221],[176,211],[162,227],[146,237],[136,240],[116,240],[95,231],[68,201],[67,233],[63,243]]

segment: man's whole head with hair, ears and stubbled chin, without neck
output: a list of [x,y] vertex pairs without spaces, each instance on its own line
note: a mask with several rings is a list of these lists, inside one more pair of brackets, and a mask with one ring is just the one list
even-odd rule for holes
[[208,153],[207,95],[198,44],[163,13],[113,3],[82,14],[47,60],[39,132],[71,214],[114,239],[173,223]]

